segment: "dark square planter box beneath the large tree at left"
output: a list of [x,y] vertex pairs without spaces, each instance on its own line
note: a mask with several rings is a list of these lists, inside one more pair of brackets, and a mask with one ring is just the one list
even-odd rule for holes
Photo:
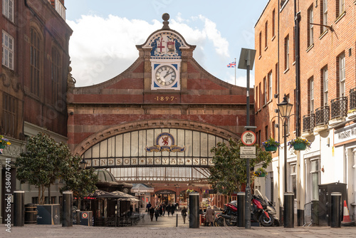
[[61,224],[60,205],[37,205],[37,224]]

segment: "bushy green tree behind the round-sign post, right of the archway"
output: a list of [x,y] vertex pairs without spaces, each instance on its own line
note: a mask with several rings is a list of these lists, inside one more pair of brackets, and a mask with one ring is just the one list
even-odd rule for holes
[[[241,140],[230,138],[229,145],[217,143],[211,148],[214,153],[214,166],[209,167],[209,183],[213,189],[224,195],[231,195],[232,192],[241,191],[241,185],[246,184],[246,159],[240,157],[240,147],[244,146]],[[256,146],[256,158],[250,159],[250,167],[254,167],[263,162],[262,167],[266,168],[272,161],[271,153],[261,150]],[[251,176],[251,172],[249,172]]]

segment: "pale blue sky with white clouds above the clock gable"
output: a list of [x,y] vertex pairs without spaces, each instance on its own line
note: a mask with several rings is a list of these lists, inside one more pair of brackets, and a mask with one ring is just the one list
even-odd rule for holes
[[[187,43],[193,57],[209,73],[235,83],[241,48],[254,48],[254,26],[268,0],[66,0],[66,21],[73,35],[69,53],[75,86],[108,81],[138,57],[135,45],[162,28],[162,14]],[[253,68],[254,69],[254,68]],[[236,68],[238,86],[246,86],[246,70]],[[254,73],[251,71],[251,84]]]

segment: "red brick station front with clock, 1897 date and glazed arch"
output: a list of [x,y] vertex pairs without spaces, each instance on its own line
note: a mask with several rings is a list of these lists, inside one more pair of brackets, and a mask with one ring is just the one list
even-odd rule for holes
[[[163,18],[126,71],[69,89],[68,144],[88,166],[105,167],[116,180],[155,187],[151,202],[164,195],[181,202],[187,189],[202,195],[209,188],[210,148],[244,132],[246,88],[199,66],[195,46],[169,29],[168,14]],[[251,125],[253,118],[251,102]]]

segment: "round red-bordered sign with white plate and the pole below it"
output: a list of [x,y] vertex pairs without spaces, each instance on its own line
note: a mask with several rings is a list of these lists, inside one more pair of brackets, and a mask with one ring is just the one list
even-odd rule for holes
[[241,141],[246,146],[240,147],[240,157],[246,159],[246,190],[245,190],[245,228],[251,229],[251,188],[250,188],[250,159],[256,157],[256,147],[251,146],[256,143],[256,134],[251,130],[246,130],[241,135]]

